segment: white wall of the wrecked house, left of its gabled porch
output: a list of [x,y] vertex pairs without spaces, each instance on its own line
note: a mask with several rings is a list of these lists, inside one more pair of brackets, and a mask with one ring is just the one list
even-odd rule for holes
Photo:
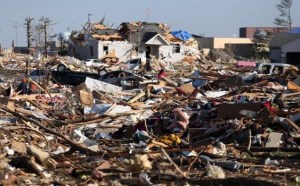
[[98,58],[101,59],[106,55],[103,47],[107,46],[108,51],[115,50],[120,61],[125,61],[130,57],[131,51],[135,48],[134,44],[125,41],[99,41]]

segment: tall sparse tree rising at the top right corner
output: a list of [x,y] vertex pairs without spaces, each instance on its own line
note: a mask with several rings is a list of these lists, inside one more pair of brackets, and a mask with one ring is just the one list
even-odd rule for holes
[[278,26],[284,26],[292,30],[292,17],[291,17],[291,8],[293,6],[293,0],[280,0],[280,3],[276,5],[276,8],[279,10],[279,17],[275,18],[274,24]]

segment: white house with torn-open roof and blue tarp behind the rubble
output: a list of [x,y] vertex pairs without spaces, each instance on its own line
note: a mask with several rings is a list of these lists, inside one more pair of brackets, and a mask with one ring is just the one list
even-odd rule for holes
[[101,59],[114,51],[121,61],[146,57],[177,62],[200,53],[197,41],[183,33],[162,23],[126,22],[117,29],[93,23],[72,38],[70,51],[78,59]]

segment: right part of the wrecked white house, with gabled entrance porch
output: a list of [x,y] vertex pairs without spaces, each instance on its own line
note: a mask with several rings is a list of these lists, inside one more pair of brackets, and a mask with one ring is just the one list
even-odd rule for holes
[[[122,23],[120,31],[135,44],[139,56],[155,57],[169,62],[181,61],[187,53],[198,53],[198,43],[192,37],[184,40],[174,36],[162,23]],[[177,32],[176,32],[177,33]]]

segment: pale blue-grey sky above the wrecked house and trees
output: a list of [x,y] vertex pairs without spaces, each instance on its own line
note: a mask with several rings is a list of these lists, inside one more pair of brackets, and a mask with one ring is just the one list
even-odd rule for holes
[[[100,21],[117,27],[122,22],[166,23],[171,30],[214,37],[238,37],[240,27],[275,26],[280,0],[1,0],[0,43],[2,48],[26,46],[25,28],[16,29],[24,18],[41,16],[56,23],[52,33],[80,30],[87,21]],[[292,7],[293,26],[300,26],[300,0]],[[17,43],[16,43],[17,39]]]

